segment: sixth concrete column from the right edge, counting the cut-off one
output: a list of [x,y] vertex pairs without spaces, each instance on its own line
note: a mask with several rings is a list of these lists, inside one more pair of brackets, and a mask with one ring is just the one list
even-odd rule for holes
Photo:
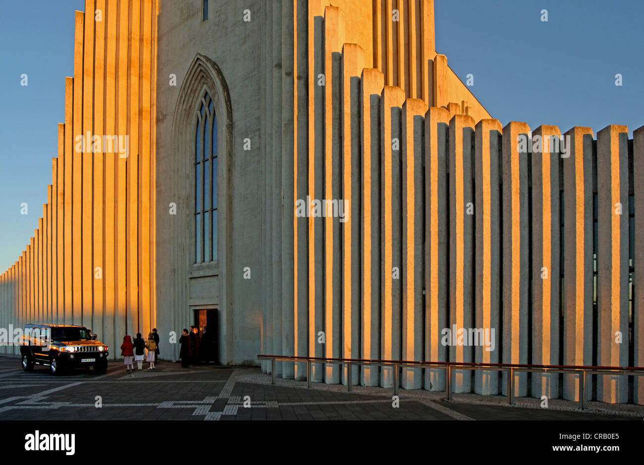
[[[501,310],[501,203],[500,153],[501,124],[480,120],[475,131],[474,215],[475,215],[475,327],[489,332],[489,346],[475,346],[474,361],[498,363],[500,360]],[[494,330],[494,333],[492,333]],[[498,372],[474,372],[477,394],[498,394]]]

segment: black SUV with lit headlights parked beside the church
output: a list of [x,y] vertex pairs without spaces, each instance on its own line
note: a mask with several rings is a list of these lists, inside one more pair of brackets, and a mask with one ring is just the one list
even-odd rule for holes
[[24,327],[20,354],[26,372],[34,365],[48,366],[53,375],[93,366],[103,374],[108,369],[109,347],[86,327],[34,323]]

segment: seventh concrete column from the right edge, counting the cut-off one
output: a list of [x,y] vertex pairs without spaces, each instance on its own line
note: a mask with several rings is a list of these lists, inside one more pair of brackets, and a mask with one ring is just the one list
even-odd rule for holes
[[[472,146],[474,120],[456,115],[450,120],[450,361],[471,362],[468,341],[474,323],[474,192]],[[473,333],[472,333],[473,335]],[[454,373],[454,392],[470,392],[472,372]]]

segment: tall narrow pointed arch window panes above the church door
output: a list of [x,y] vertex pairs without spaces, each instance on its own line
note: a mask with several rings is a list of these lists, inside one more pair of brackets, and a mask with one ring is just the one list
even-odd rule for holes
[[218,260],[217,253],[217,116],[207,92],[196,114],[194,144],[195,263]]

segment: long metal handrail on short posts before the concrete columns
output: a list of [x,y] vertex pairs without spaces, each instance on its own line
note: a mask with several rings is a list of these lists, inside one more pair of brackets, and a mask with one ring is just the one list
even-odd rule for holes
[[440,367],[445,370],[446,395],[445,398],[451,400],[452,394],[452,371],[459,370],[485,370],[485,371],[507,371],[507,401],[514,405],[514,388],[515,372],[551,372],[551,373],[568,373],[578,374],[579,383],[579,406],[580,409],[587,407],[585,392],[587,390],[587,375],[644,375],[644,367],[641,366],[586,366],[586,365],[527,365],[522,363],[477,363],[477,362],[435,362],[435,361],[410,361],[410,360],[377,360],[377,359],[350,359],[338,357],[303,357],[303,356],[278,356],[259,354],[259,360],[269,360],[272,363],[271,384],[275,384],[275,362],[290,361],[294,363],[307,363],[307,386],[311,387],[311,364],[323,363],[325,365],[346,365],[347,366],[347,390],[352,389],[352,365],[358,366],[393,366],[393,395],[398,395],[399,377],[398,372],[403,366],[412,366],[413,368],[431,368]]

